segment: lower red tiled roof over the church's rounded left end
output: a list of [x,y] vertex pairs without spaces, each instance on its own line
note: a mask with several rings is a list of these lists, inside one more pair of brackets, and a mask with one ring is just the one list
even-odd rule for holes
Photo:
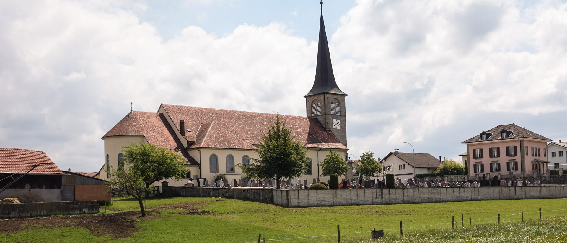
[[198,164],[191,155],[184,150],[183,144],[175,135],[173,128],[169,125],[163,114],[158,112],[132,111],[124,116],[104,137],[139,135],[145,136],[147,142],[176,151],[185,158],[188,164]]

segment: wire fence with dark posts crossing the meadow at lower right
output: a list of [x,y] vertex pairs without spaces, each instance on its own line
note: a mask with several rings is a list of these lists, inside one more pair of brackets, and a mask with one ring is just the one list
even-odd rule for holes
[[[541,213],[542,212],[553,212],[553,211],[564,211],[567,209],[556,209],[556,210],[545,210],[545,211],[541,211],[541,208],[539,209],[539,211],[533,211],[533,212],[518,212],[517,214],[508,214],[508,215],[500,215],[498,214],[498,216],[495,217],[489,217],[489,218],[482,218],[482,219],[472,219],[469,216],[469,220],[464,220],[464,218],[462,218],[462,225],[464,227],[464,222],[469,221],[469,224],[472,226],[472,222],[473,221],[480,221],[480,220],[488,220],[488,219],[498,219],[498,224],[500,224],[500,218],[503,217],[508,217],[508,216],[514,216],[514,215],[522,215],[522,221],[524,220],[523,215],[524,214],[534,214],[534,213],[539,213],[539,219],[541,219]],[[462,214],[462,216],[464,216]],[[468,215],[467,215],[468,216]],[[414,226],[414,227],[402,227],[402,222],[400,221],[400,228],[391,228],[391,229],[374,229],[374,231],[400,231],[400,234],[403,235],[403,230],[404,229],[416,229],[416,228],[425,228],[425,227],[434,227],[434,226],[440,226],[440,225],[448,225],[451,224],[453,228],[457,228],[456,227],[456,223],[458,223],[458,221],[452,220],[452,222],[449,223],[441,223],[441,224],[431,224],[431,225],[421,225],[421,226]],[[300,237],[289,237],[289,238],[268,238],[266,239],[265,237],[262,237],[261,234],[258,235],[258,240],[255,241],[248,241],[248,242],[243,242],[243,243],[263,243],[263,242],[269,242],[269,241],[286,241],[286,240],[300,240],[300,239],[304,239],[304,238],[321,238],[321,237],[336,237],[336,240],[334,240],[335,242],[338,241],[338,243],[341,242],[341,236],[344,235],[354,235],[354,234],[360,234],[360,233],[370,233],[373,231],[359,231],[359,232],[348,232],[348,233],[340,233],[340,225],[337,225],[337,233],[333,233],[333,234],[329,234],[329,235],[318,235],[318,236],[300,236]],[[331,239],[329,239],[331,240]]]

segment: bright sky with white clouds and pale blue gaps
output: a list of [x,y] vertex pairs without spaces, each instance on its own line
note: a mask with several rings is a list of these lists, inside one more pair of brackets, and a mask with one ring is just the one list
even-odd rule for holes
[[[0,147],[98,171],[161,103],[306,115],[319,1],[0,1]],[[565,1],[325,1],[350,154],[429,153],[514,123],[567,141]],[[404,144],[408,142],[409,144]]]

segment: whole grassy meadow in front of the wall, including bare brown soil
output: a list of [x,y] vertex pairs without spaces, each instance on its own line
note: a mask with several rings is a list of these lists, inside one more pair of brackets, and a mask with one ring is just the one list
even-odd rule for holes
[[[540,207],[542,220],[539,220]],[[386,237],[376,242],[498,242],[490,239],[493,236],[518,238],[518,232],[524,232],[522,236],[539,234],[565,241],[562,232],[567,226],[566,218],[561,218],[567,217],[567,199],[564,198],[288,209],[236,199],[177,197],[149,198],[146,208],[149,215],[138,218],[137,202],[120,198],[106,212],[101,207],[97,215],[58,215],[18,219],[19,222],[0,220],[0,242],[57,239],[58,242],[242,243],[257,242],[259,234],[267,242],[281,238],[290,239],[277,241],[337,242],[337,225],[340,225],[341,242],[370,242],[369,231],[373,229],[385,230]],[[461,222],[461,214],[464,222]],[[500,224],[497,224],[498,214]],[[458,222],[456,229],[452,229],[452,216]],[[401,238],[400,221],[404,227]],[[2,225],[10,223],[18,225],[2,230]],[[534,233],[550,227],[562,229],[556,234],[554,231]],[[559,242],[557,239],[553,242]]]

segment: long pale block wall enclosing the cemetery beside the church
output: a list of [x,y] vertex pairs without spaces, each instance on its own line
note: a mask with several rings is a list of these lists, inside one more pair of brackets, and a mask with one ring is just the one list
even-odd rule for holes
[[567,198],[567,186],[277,190],[168,186],[167,197],[223,197],[282,207],[380,205],[507,199]]

